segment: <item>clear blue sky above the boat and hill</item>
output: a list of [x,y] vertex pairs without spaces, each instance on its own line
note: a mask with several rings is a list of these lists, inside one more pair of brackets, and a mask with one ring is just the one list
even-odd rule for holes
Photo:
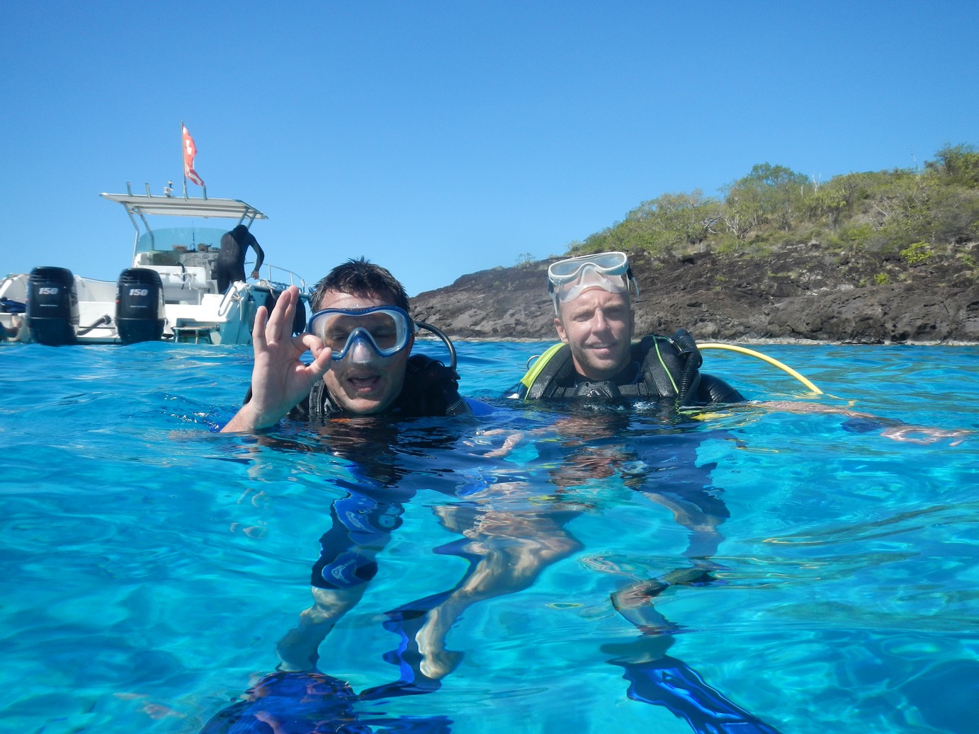
[[115,281],[132,225],[99,194],[179,187],[184,120],[208,195],[268,214],[268,260],[366,255],[416,295],[755,163],[977,145],[977,38],[969,0],[9,0],[0,273]]

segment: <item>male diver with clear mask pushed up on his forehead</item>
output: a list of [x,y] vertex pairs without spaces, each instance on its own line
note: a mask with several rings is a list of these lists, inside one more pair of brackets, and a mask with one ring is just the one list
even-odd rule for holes
[[[554,327],[563,344],[538,359],[515,397],[588,403],[638,399],[674,410],[745,399],[720,378],[700,373],[696,343],[683,330],[673,338],[650,336],[632,344],[635,317],[629,290],[638,292],[638,288],[624,252],[560,260],[550,265],[547,275]],[[636,453],[641,446],[632,444],[647,437],[654,450]],[[690,437],[640,432],[629,446],[617,450],[611,446],[603,450],[585,438],[572,451],[574,457],[585,450],[589,467],[599,462],[607,472],[617,469],[627,485],[668,507],[691,531],[684,554],[691,560],[689,568],[637,580],[612,594],[614,608],[635,625],[640,637],[633,645],[609,650],[617,654],[609,662],[626,669],[629,698],[669,709],[696,732],[777,734],[768,723],[710,687],[695,670],[666,654],[679,627],[660,615],[652,602],[671,586],[717,582],[710,558],[723,539],[717,528],[729,517],[723,499],[711,487],[710,467],[696,465],[697,442],[686,440]],[[642,460],[634,461],[637,458]]]

